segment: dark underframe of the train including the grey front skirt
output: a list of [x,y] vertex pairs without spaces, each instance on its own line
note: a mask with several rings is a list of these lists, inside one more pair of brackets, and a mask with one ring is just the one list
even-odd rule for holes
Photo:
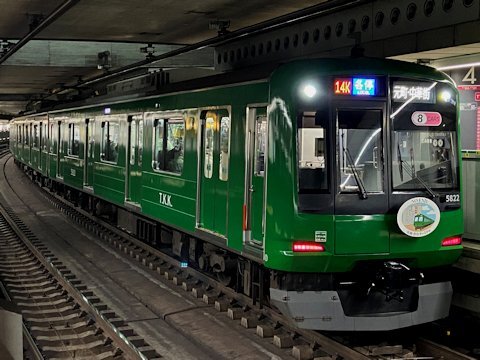
[[[20,164],[20,163],[17,163]],[[22,165],[23,166],[23,165]],[[291,273],[265,268],[190,234],[146,218],[23,166],[40,186],[139,240],[174,255],[223,285],[274,306],[299,328],[384,331],[448,316],[452,286],[447,269],[420,272],[407,261],[365,261],[348,273]]]

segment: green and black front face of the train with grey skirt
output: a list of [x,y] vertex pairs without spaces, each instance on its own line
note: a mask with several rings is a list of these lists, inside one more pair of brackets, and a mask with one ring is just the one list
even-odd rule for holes
[[446,317],[460,255],[458,97],[444,74],[351,59],[271,77],[265,265],[300,328]]

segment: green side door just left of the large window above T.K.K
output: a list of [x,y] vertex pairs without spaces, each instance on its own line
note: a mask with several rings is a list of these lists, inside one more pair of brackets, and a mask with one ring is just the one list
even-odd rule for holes
[[142,185],[143,116],[128,117],[125,201],[140,203]]

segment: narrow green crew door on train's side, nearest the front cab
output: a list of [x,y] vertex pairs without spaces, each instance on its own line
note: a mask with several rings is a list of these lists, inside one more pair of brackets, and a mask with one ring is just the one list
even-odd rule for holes
[[265,152],[267,108],[247,108],[244,241],[263,246],[265,229]]

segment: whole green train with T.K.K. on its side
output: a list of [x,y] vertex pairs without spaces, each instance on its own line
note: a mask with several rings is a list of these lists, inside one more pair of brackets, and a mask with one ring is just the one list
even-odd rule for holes
[[[43,185],[296,326],[371,331],[448,315],[458,128],[441,72],[305,59],[18,117],[10,148]],[[418,210],[432,226],[415,228]]]

